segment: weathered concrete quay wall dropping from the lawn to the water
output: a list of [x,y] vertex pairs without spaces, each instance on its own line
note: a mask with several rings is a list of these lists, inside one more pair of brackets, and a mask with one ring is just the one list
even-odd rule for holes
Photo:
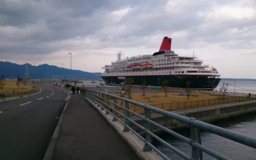
[[[214,122],[220,119],[243,116],[249,113],[256,113],[256,100],[227,103],[222,105],[207,106],[207,107],[197,107],[191,109],[182,109],[172,111],[173,113],[181,114],[186,117],[193,117],[203,122]],[[132,117],[134,121],[145,126],[145,122],[137,117]],[[184,129],[187,126],[185,123],[179,122],[172,118],[167,118],[163,115],[152,113],[151,119],[162,126],[168,127],[170,129]],[[131,127],[136,131],[141,131],[137,126],[131,123]],[[153,126],[153,131],[155,133],[161,132],[157,127]]]

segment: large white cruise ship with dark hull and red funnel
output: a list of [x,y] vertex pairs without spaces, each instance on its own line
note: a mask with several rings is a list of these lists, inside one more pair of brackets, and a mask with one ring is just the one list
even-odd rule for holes
[[[161,86],[169,81],[171,88],[214,90],[221,75],[213,66],[203,63],[196,55],[179,55],[171,50],[171,38],[164,37],[158,52],[122,59],[121,51],[117,61],[105,65],[101,77],[106,83],[122,84],[128,77],[133,85]],[[187,83],[189,82],[189,83]],[[189,85],[188,85],[189,84]]]

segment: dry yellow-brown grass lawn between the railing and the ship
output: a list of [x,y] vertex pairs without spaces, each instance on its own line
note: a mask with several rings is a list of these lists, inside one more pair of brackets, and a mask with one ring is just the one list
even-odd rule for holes
[[[119,94],[115,94],[120,96]],[[187,99],[186,95],[179,95],[179,93],[168,93],[168,96],[164,96],[165,93],[146,93],[146,96],[142,96],[142,93],[133,93],[131,95],[133,101],[141,102],[150,106],[157,107],[163,110],[179,110],[179,109],[188,109],[191,107],[203,107],[210,105],[219,105],[223,103],[232,103],[232,102],[241,102],[241,101],[249,101],[252,98],[245,97],[225,97],[219,98],[217,95],[210,94],[192,94],[189,99]],[[148,102],[147,97],[153,97],[152,102]],[[159,96],[159,97],[156,97]],[[127,98],[127,96],[125,96]],[[110,98],[112,102],[114,99]],[[118,105],[121,105],[121,101],[117,100]],[[114,107],[113,104],[110,104],[111,107]],[[125,103],[123,103],[125,106]],[[129,109],[135,111],[138,114],[143,114],[145,110],[142,107],[135,106],[133,104],[129,104]],[[125,113],[123,109],[118,109],[121,113]],[[132,115],[132,114],[131,114]]]

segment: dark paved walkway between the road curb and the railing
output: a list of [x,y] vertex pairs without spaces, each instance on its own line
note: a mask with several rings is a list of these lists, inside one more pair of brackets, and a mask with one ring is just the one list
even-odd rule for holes
[[71,95],[53,159],[139,158],[85,97],[75,94]]

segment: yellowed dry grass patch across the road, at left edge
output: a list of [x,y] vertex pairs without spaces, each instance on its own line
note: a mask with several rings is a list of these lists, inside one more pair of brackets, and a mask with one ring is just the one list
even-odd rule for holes
[[21,95],[31,93],[34,89],[33,86],[26,86],[20,83],[19,87],[16,85],[17,81],[5,81],[5,88],[1,94],[5,96]]

